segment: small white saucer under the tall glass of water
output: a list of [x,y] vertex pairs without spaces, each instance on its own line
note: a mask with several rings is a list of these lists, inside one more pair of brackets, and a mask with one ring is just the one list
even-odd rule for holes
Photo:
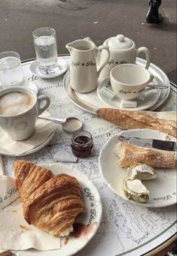
[[58,71],[56,71],[53,74],[41,74],[37,65],[37,59],[34,60],[34,62],[31,62],[29,69],[32,74],[36,77],[40,77],[43,79],[50,79],[60,76],[61,74],[64,74],[68,69],[68,64],[65,61],[65,59],[58,57]]

